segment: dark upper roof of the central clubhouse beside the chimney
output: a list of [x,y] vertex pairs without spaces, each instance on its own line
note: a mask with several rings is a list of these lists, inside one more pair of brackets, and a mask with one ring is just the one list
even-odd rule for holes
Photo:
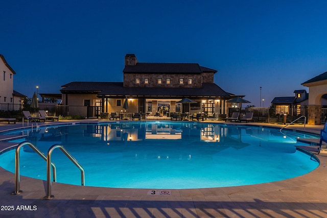
[[202,72],[217,72],[215,69],[201,67],[197,63],[137,63],[126,65],[125,74],[201,74]]

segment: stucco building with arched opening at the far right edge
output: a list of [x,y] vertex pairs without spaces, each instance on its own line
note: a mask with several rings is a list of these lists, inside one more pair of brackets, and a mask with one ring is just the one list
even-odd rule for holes
[[327,94],[327,72],[324,72],[301,85],[309,87],[309,103],[308,103],[308,124],[321,124],[321,108],[327,105],[324,98]]

